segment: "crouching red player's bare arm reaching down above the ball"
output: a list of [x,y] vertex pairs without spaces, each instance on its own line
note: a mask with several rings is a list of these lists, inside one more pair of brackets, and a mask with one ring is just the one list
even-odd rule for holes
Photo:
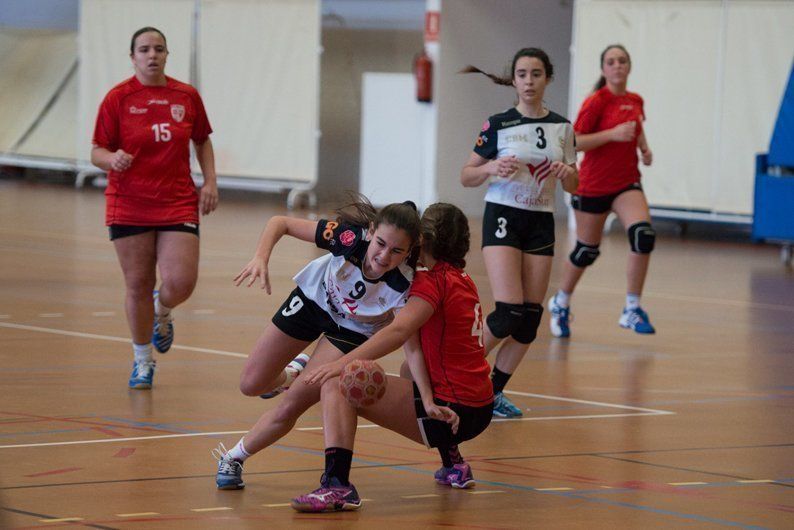
[[375,333],[364,344],[338,361],[318,366],[306,374],[304,382],[312,385],[342,373],[346,364],[356,359],[379,359],[402,346],[422,325],[433,316],[433,306],[418,296],[408,299],[391,324]]

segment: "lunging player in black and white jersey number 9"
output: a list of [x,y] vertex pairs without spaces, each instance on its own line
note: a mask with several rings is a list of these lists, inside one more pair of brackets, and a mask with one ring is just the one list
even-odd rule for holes
[[[234,279],[236,285],[247,280],[249,287],[259,279],[270,294],[267,264],[284,235],[329,251],[295,276],[297,287],[273,316],[243,368],[243,394],[258,396],[289,385],[285,366],[318,338],[308,366],[339,359],[391,322],[394,310],[405,305],[414,272],[410,256],[419,243],[416,206],[405,202],[376,211],[359,197],[337,214],[334,221],[319,222],[272,217],[254,258]],[[290,375],[300,381],[300,370],[295,372]],[[236,446],[228,452],[222,444],[213,450],[219,460],[218,488],[242,488],[245,459],[287,434],[300,415],[318,401],[319,388],[293,383],[278,406],[263,414]]]

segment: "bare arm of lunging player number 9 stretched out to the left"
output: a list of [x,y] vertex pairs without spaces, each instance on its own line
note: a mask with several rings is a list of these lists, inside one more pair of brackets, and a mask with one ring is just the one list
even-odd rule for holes
[[302,241],[314,241],[314,234],[317,230],[317,223],[306,219],[296,219],[283,215],[274,215],[265,225],[262,235],[259,237],[259,244],[256,246],[254,257],[243,267],[237,276],[234,277],[234,285],[239,286],[246,278],[250,278],[246,287],[251,287],[257,278],[262,282],[262,289],[270,294],[270,277],[268,275],[267,264],[270,261],[270,254],[278,240],[288,235]]

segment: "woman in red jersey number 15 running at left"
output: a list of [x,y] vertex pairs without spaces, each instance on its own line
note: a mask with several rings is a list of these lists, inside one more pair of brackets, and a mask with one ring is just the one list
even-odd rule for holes
[[[135,360],[130,388],[152,387],[155,361],[171,347],[171,309],[198,277],[199,211],[218,205],[212,132],[192,86],[165,75],[165,36],[152,27],[130,42],[135,75],[113,87],[99,107],[91,162],[108,172],[105,224],[126,285],[127,322]],[[190,174],[190,142],[204,185]],[[157,282],[156,268],[161,283]]]

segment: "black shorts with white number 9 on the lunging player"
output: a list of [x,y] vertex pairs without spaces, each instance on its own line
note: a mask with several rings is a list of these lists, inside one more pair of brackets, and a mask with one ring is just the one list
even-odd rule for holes
[[325,333],[328,341],[342,353],[348,353],[364,344],[367,336],[343,328],[314,300],[296,287],[273,315],[273,324],[293,339],[313,342]]

